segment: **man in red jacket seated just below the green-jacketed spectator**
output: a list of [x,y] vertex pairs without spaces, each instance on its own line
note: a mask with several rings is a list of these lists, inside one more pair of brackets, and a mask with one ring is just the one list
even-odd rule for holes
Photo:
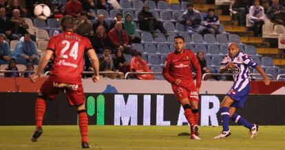
[[115,27],[110,30],[108,36],[114,49],[120,48],[124,53],[132,54],[129,38],[127,37],[127,32],[123,29],[122,22],[117,22]]

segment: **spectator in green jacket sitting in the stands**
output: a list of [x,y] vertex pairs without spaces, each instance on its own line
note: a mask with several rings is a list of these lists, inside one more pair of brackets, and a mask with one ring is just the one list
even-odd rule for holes
[[134,22],[131,21],[131,13],[127,13],[125,15],[125,20],[123,22],[124,29],[127,32],[127,35],[129,36],[129,44],[132,43],[140,43],[140,38],[136,36],[136,29],[134,26]]

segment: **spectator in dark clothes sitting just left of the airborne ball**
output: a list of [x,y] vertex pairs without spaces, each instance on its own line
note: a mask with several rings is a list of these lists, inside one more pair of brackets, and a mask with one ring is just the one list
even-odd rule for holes
[[27,29],[29,28],[28,24],[25,23],[25,19],[20,17],[20,15],[20,10],[14,9],[13,16],[10,19],[10,21],[12,22],[12,32],[15,36],[18,36],[17,39],[21,38],[25,34],[28,34]]

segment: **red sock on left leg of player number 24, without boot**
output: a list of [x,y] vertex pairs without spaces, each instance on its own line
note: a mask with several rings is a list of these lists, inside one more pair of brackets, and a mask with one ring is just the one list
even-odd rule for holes
[[38,97],[36,99],[35,118],[36,118],[36,128],[43,125],[43,115],[45,114],[45,99]]

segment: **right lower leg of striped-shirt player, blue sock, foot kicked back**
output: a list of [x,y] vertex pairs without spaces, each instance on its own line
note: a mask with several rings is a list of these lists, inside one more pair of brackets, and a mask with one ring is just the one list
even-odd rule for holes
[[250,123],[249,121],[246,121],[242,116],[239,114],[234,113],[231,116],[231,120],[235,121],[235,123],[242,125],[249,129],[249,132],[251,132],[251,139],[255,138],[258,132],[258,125],[254,125],[253,123]]

